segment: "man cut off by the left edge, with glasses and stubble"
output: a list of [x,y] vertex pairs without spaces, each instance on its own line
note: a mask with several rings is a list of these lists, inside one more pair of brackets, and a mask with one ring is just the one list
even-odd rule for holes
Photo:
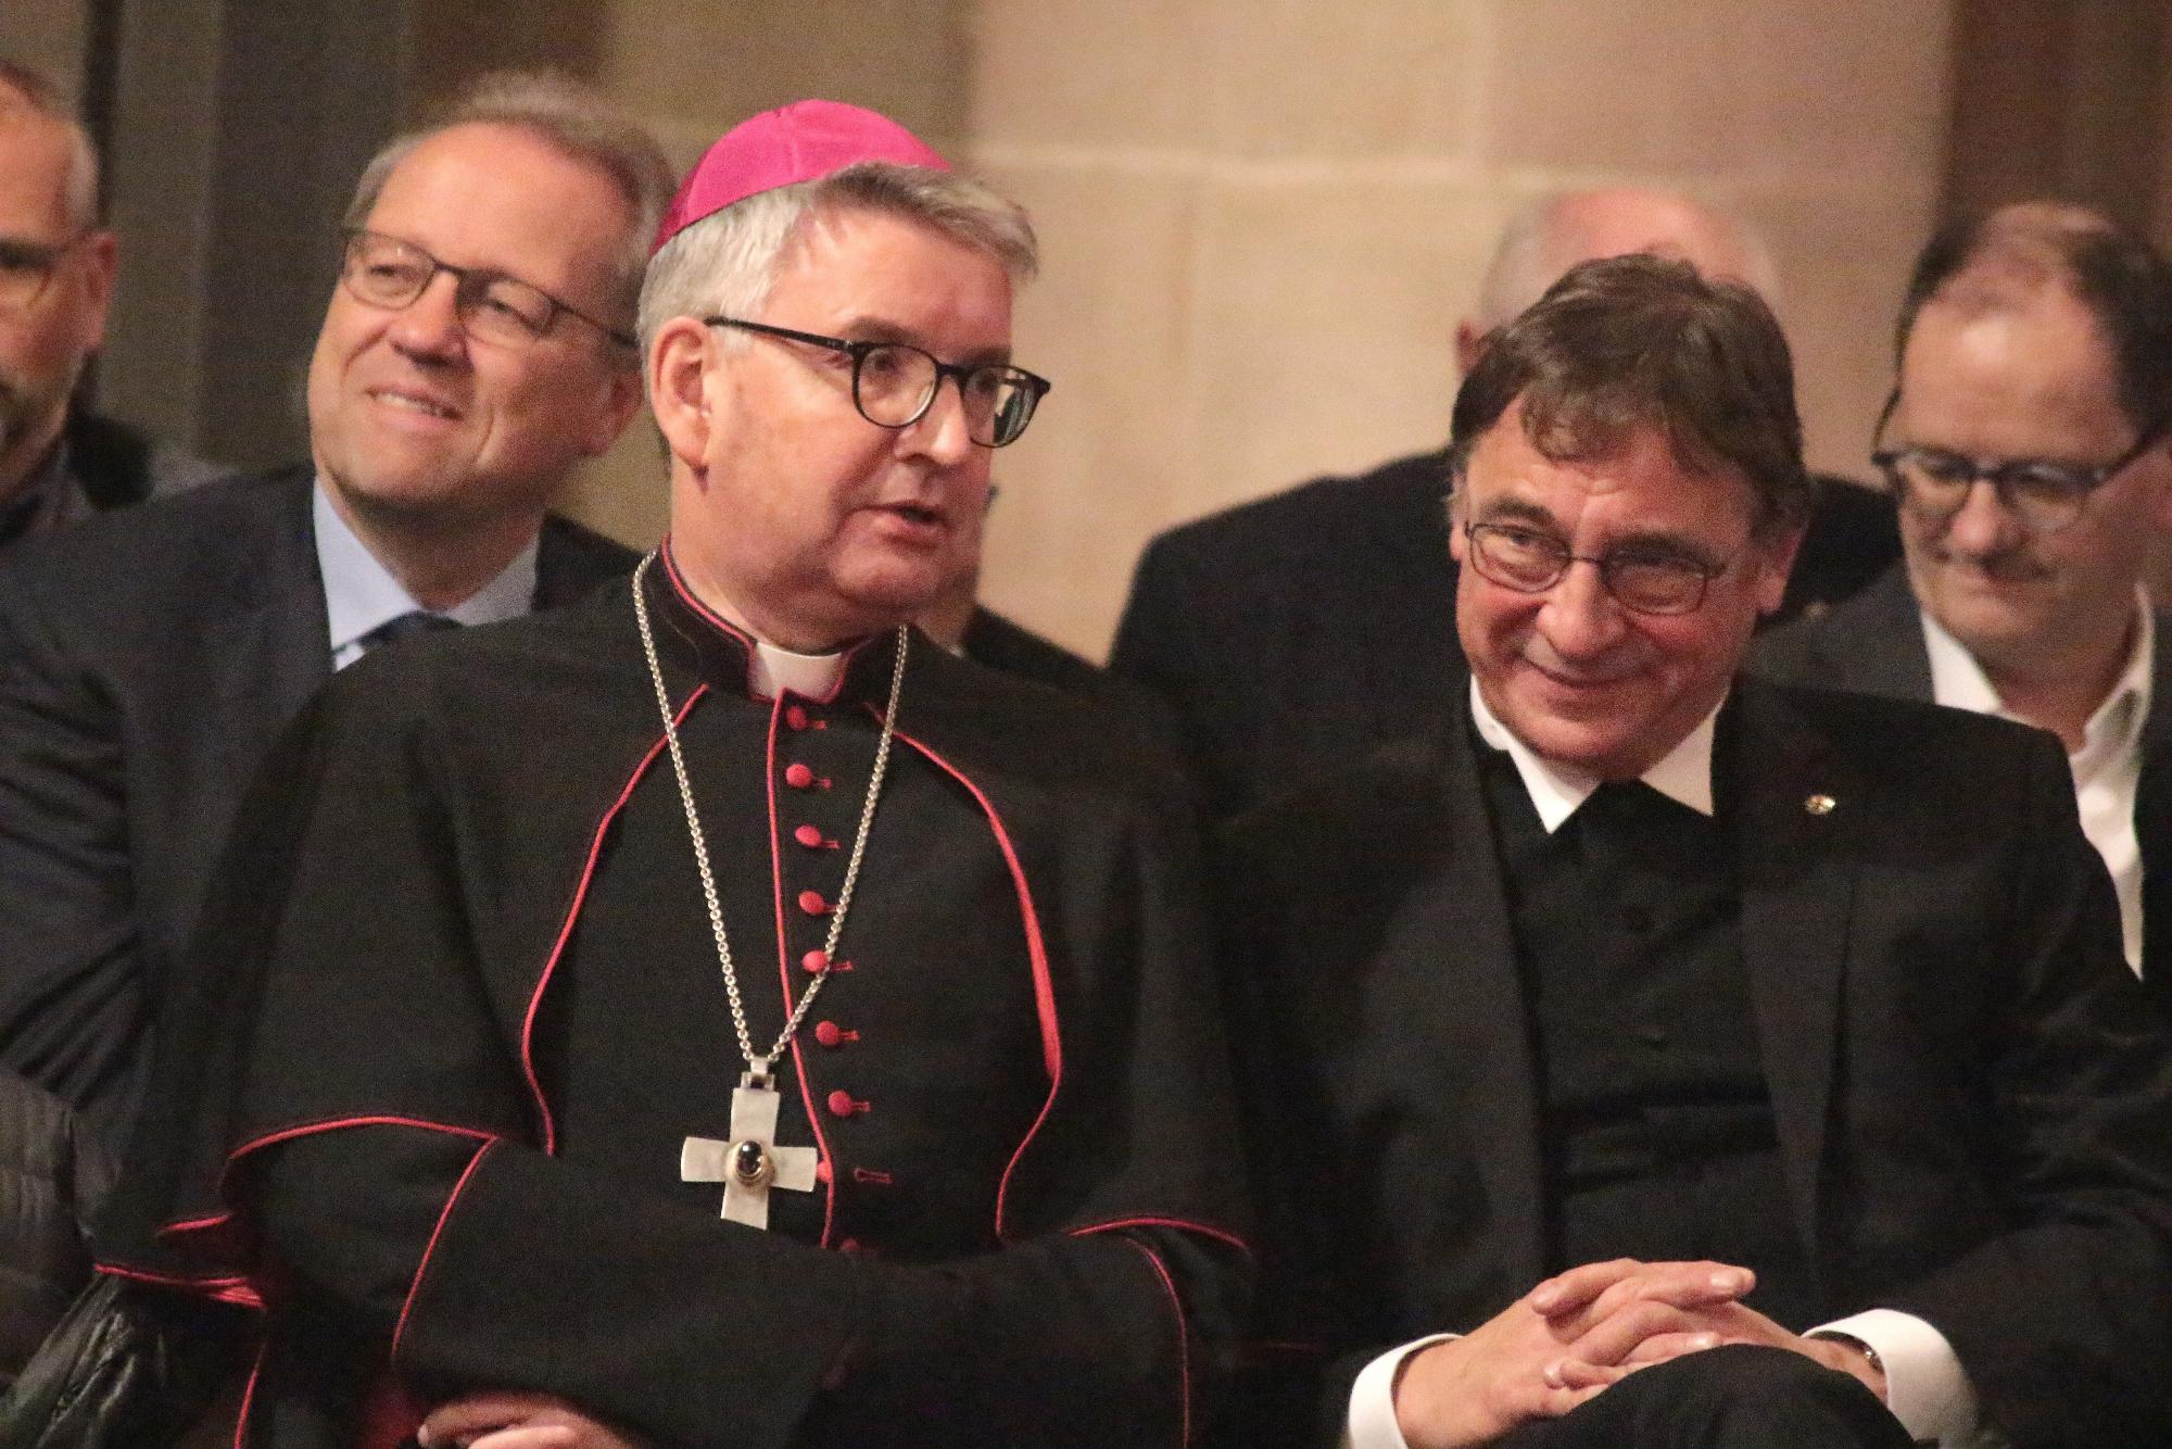
[[74,400],[117,250],[91,137],[41,76],[0,59],[0,547],[215,474]]

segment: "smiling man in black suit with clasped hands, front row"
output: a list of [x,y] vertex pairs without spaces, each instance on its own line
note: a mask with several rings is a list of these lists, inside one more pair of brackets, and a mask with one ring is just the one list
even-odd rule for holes
[[2165,1442],[2172,1041],[2057,747],[1738,673],[1811,502],[1770,311],[1586,263],[1449,467],[1455,706],[1216,865],[1229,1442]]

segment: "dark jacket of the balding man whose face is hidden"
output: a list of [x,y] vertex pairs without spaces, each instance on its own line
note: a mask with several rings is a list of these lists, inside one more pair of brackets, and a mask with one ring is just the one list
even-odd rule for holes
[[[1775,619],[1824,608],[1901,556],[1881,493],[1820,478]],[[1440,452],[1314,478],[1147,545],[1110,671],[1177,717],[1216,817],[1429,730],[1462,667]]]

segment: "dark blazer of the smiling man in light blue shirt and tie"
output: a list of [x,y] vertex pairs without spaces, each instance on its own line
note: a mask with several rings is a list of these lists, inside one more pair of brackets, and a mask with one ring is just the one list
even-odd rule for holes
[[[206,484],[0,565],[0,1064],[109,1136],[235,804],[332,669],[311,478]],[[632,558],[550,519],[536,604]]]

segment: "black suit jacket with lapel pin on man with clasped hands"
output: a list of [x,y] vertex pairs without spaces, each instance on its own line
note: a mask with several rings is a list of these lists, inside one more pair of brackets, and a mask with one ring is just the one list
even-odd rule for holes
[[[1770,1210],[1818,1308],[1937,1325],[2018,1442],[2168,1442],[2172,1043],[2137,1010],[2057,743],[1755,680],[1727,708],[1714,773],[1788,1180]],[[1329,1425],[1364,1360],[1566,1267],[1544,1258],[1531,1021],[1464,719],[1236,821],[1216,867],[1268,1382],[1334,1364],[1301,1393]]]

